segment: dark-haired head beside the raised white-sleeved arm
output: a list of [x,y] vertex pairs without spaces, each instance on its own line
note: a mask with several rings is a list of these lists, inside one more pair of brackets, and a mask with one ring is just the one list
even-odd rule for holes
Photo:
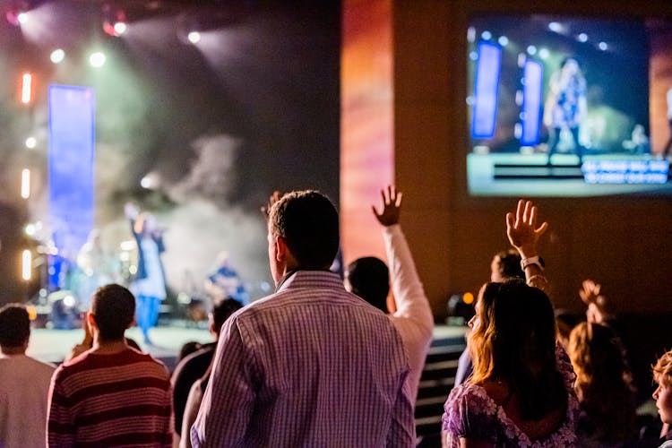
[[346,271],[353,293],[369,304],[387,313],[387,295],[390,292],[390,272],[383,260],[374,256],[358,258],[349,263]]

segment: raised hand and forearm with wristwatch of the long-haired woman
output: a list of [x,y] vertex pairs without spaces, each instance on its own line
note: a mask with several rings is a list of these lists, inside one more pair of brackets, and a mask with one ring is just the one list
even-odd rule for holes
[[521,267],[530,286],[547,288],[544,266],[538,256],[538,240],[548,228],[547,222],[537,226],[537,206],[530,201],[520,200],[513,212],[506,213],[506,236],[521,254]]

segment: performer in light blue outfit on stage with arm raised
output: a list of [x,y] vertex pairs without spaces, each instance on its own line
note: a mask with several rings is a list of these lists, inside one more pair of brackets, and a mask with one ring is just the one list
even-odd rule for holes
[[144,343],[151,344],[149,331],[157,322],[161,301],[166,298],[166,280],[160,258],[166,250],[163,230],[151,213],[140,213],[132,203],[125,205],[125,215],[131,220],[138,246],[138,270],[130,286],[137,304],[135,317]]

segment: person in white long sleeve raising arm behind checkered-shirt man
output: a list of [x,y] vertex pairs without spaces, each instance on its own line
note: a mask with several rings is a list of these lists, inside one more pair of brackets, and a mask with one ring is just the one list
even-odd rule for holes
[[[345,274],[346,289],[364,298],[369,304],[387,314],[401,335],[406,352],[409,355],[409,388],[411,403],[415,406],[418,396],[420,375],[432,343],[434,316],[418,277],[409,245],[399,224],[401,212],[401,192],[389,186],[383,190],[383,210],[375,210],[375,218],[383,226],[383,240],[388,263],[375,257],[359,258],[350,263]],[[387,296],[392,277],[392,294],[396,311],[390,314],[387,308]]]

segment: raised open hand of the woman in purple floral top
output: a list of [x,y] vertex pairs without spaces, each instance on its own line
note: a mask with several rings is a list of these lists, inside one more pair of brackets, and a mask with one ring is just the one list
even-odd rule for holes
[[523,258],[537,254],[538,239],[548,228],[547,222],[537,227],[537,213],[537,206],[522,199],[518,201],[515,217],[512,212],[506,213],[506,236]]

